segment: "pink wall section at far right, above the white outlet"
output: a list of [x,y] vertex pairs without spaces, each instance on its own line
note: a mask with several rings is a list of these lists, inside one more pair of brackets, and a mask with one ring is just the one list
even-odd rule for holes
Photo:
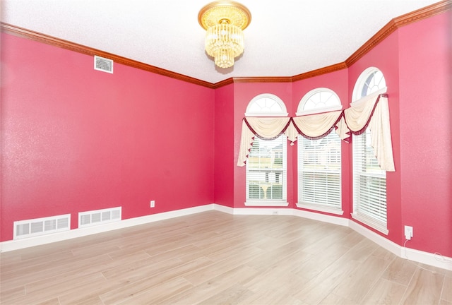
[[399,30],[400,188],[410,248],[452,257],[452,12]]

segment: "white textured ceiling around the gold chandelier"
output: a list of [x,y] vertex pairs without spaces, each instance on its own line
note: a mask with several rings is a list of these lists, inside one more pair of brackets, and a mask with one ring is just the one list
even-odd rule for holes
[[391,19],[439,0],[239,0],[245,51],[218,68],[199,10],[210,0],[1,0],[1,21],[185,76],[296,76],[344,62]]

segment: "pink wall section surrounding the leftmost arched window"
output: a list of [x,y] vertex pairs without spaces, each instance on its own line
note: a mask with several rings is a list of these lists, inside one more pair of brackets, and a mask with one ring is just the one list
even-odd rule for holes
[[[271,93],[280,97],[287,107],[289,116],[294,116],[296,108],[292,105],[292,83],[236,83],[234,84],[234,207],[244,208],[246,201],[246,167],[237,166],[240,137],[242,134],[242,119],[245,116],[249,102],[263,93]],[[288,208],[295,206],[293,196],[293,175],[296,167],[293,166],[293,151],[287,142],[287,202]]]

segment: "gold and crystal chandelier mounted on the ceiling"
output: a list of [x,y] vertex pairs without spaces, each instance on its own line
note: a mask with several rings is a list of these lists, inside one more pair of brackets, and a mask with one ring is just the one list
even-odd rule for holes
[[235,1],[214,1],[198,14],[206,32],[206,52],[220,68],[234,66],[234,58],[243,53],[244,30],[251,22],[248,8]]

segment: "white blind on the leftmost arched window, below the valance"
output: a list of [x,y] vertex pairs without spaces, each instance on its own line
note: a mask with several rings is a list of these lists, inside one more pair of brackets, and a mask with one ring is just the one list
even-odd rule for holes
[[[258,201],[265,205],[285,203],[287,139],[282,135],[274,140],[255,138],[246,161],[246,203]],[[250,204],[251,203],[251,204]]]

